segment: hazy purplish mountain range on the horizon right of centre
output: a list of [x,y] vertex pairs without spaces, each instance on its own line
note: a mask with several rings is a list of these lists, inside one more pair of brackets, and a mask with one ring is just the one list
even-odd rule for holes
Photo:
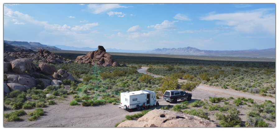
[[200,50],[192,47],[172,48],[172,49],[155,49],[147,54],[174,54],[174,55],[198,55],[198,56],[226,56],[226,57],[256,57],[256,58],[276,58],[275,48],[261,50],[231,50],[231,51],[214,51]]

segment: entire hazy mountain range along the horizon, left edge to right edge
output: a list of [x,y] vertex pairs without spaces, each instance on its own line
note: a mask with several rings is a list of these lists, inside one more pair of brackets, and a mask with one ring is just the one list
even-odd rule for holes
[[[66,45],[43,45],[39,42],[25,41],[6,41],[9,45],[21,47],[24,49],[47,49],[47,50],[76,50],[76,51],[95,51],[98,48],[83,47],[77,48]],[[106,49],[106,48],[105,48]],[[151,49],[151,50],[126,50],[126,49],[110,49],[106,52],[118,53],[144,53],[144,54],[173,54],[173,55],[196,55],[196,56],[225,56],[225,57],[255,57],[255,58],[276,58],[276,49],[247,49],[247,50],[200,50],[192,47],[172,48],[172,49]]]

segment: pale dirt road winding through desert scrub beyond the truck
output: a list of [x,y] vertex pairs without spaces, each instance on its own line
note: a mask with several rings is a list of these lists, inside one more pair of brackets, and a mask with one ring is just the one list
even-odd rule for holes
[[[147,72],[147,69],[149,67],[142,67],[140,69],[138,69],[137,71],[139,73],[144,73],[144,74],[149,74],[152,75],[154,77],[164,77],[161,75],[156,75],[156,74],[152,74],[150,72]],[[178,79],[178,82],[184,82],[185,80],[183,79]],[[232,97],[246,97],[246,98],[252,98],[254,100],[258,100],[258,101],[264,101],[264,100],[270,100],[273,103],[275,103],[275,98],[271,98],[271,97],[262,97],[259,96],[258,94],[251,94],[248,92],[241,92],[241,91],[236,91],[233,89],[223,89],[223,88],[214,88],[214,87],[209,87],[206,85],[202,85],[200,84],[196,89],[200,90],[200,91],[207,91],[207,92],[212,92],[212,93],[216,93],[216,94],[226,94]],[[199,94],[200,95],[200,94]],[[194,95],[194,96],[198,96],[198,95]],[[208,96],[209,98],[210,96]]]

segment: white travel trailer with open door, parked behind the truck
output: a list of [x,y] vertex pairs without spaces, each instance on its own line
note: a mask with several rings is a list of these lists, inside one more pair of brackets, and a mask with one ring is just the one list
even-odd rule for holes
[[156,92],[149,90],[141,90],[134,92],[122,92],[121,93],[121,103],[119,108],[128,109],[132,111],[133,108],[140,107],[145,103],[148,105],[156,104]]

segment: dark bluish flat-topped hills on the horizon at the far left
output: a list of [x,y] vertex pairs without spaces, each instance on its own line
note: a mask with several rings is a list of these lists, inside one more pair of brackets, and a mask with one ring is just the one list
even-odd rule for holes
[[39,42],[27,42],[27,41],[6,41],[4,43],[9,45],[24,47],[26,49],[47,49],[47,50],[61,50],[54,46],[42,45]]

